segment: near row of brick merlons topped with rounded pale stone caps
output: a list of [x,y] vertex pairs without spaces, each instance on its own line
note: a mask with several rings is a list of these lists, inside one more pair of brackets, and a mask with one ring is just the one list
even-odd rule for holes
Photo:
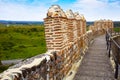
[[66,13],[58,5],[49,8],[45,22],[48,50],[62,50],[86,33],[86,20],[72,10]]

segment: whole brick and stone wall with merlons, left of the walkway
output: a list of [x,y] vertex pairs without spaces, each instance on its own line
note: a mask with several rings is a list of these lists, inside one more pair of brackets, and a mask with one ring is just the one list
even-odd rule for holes
[[83,15],[52,5],[44,19],[48,51],[10,67],[0,80],[69,80],[94,37],[113,28],[112,21],[109,27],[103,23],[96,21],[86,32]]

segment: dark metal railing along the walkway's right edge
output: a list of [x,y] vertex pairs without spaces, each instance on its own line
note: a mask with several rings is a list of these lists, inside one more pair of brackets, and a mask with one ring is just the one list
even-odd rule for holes
[[[115,35],[120,35],[119,32],[114,32],[109,29],[106,31],[106,45],[108,50],[108,56],[113,57],[113,60],[115,62],[115,79],[118,78],[118,68],[120,64],[120,44],[114,40]],[[111,54],[112,52],[112,54]]]

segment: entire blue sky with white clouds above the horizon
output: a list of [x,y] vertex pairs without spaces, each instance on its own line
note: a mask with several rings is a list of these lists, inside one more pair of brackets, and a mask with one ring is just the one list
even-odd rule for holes
[[51,5],[83,14],[87,21],[120,21],[120,0],[0,0],[0,20],[43,21]]

